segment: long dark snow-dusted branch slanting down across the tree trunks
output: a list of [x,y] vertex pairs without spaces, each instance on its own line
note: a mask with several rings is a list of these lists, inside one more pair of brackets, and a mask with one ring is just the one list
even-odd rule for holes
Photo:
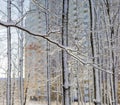
[[[46,40],[49,41],[50,43],[55,44],[55,45],[57,45],[59,48],[65,50],[69,55],[71,55],[72,57],[74,57],[76,60],[78,60],[79,62],[81,62],[83,65],[91,65],[91,66],[93,66],[94,68],[96,68],[96,69],[98,69],[98,70],[100,70],[100,71],[104,71],[104,72],[107,72],[107,73],[109,73],[109,74],[113,74],[112,72],[110,72],[110,71],[108,71],[108,70],[104,70],[104,69],[98,67],[97,65],[95,65],[95,64],[93,64],[93,63],[85,62],[83,59],[81,59],[80,57],[78,57],[78,56],[76,56],[76,55],[74,55],[74,54],[72,53],[73,51],[76,51],[75,49],[72,49],[72,48],[70,48],[70,47],[63,46],[62,44],[59,44],[59,43],[56,42],[55,40],[52,40],[52,39],[50,39],[49,37],[47,37],[48,35],[46,35],[46,34],[34,33],[34,32],[32,32],[32,31],[30,31],[30,30],[28,30],[28,29],[26,29],[26,28],[24,28],[24,27],[22,27],[22,26],[20,26],[20,25],[18,25],[18,24],[16,24],[16,23],[14,23],[14,22],[3,22],[3,21],[0,20],[0,25],[1,25],[1,26],[4,26],[4,27],[14,27],[14,28],[20,29],[20,30],[22,30],[22,31],[24,31],[24,32],[32,35],[32,36],[37,36],[37,37],[41,37],[41,38],[43,38],[43,39],[46,39]],[[50,34],[50,33],[49,33],[49,34]],[[77,52],[77,51],[76,51],[76,52]]]

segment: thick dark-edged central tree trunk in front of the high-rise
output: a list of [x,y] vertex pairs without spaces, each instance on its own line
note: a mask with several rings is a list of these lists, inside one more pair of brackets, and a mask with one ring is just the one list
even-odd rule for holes
[[[63,0],[62,11],[62,44],[68,46],[68,9],[69,0]],[[70,105],[69,72],[67,64],[68,56],[66,51],[62,51],[62,70],[63,70],[63,105]]]

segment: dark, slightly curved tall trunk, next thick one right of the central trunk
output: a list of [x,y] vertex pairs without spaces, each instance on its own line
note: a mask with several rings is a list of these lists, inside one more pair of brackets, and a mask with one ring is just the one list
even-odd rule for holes
[[[94,0],[89,0],[89,10],[90,10],[90,42],[91,42],[91,53],[93,57],[93,63],[97,64],[99,58],[94,58],[97,56],[97,48],[95,46],[94,40],[94,29],[95,29],[95,14],[93,7]],[[99,84],[99,71],[98,69],[93,67],[93,77],[94,77],[94,97],[95,97],[95,105],[101,105],[100,103],[100,84]]]

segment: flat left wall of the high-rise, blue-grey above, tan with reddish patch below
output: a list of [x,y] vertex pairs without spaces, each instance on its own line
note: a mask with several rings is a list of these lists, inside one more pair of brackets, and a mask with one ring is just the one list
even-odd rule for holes
[[[44,6],[45,1],[39,1]],[[31,13],[26,18],[26,28],[38,34],[46,34],[45,13],[32,1]],[[46,85],[46,41],[40,37],[26,35],[25,37],[25,88],[28,88],[28,96],[36,93],[44,95]],[[37,92],[38,91],[38,92]]]

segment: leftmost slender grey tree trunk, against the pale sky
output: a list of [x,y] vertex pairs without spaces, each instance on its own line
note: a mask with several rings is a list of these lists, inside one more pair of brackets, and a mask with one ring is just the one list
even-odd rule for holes
[[[7,22],[11,21],[11,0],[7,0]],[[11,29],[7,28],[7,56],[8,56],[8,70],[7,70],[7,105],[11,105]]]

